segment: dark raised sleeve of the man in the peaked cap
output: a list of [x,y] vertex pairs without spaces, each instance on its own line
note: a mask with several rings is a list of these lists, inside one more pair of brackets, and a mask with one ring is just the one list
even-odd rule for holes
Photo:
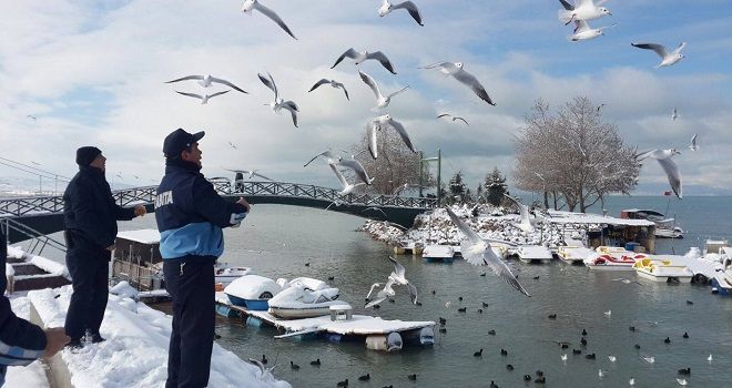
[[202,217],[218,227],[238,225],[234,219],[241,221],[246,213],[244,205],[222,198],[203,176],[196,177],[192,188],[193,206]]

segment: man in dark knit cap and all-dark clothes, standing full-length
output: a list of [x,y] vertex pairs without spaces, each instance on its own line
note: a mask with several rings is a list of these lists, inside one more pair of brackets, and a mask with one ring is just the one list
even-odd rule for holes
[[118,206],[104,177],[106,157],[93,146],[77,150],[79,173],[63,193],[63,222],[67,239],[67,267],[73,294],[67,313],[69,346],[82,346],[87,331],[92,343],[104,340],[99,334],[109,296],[110,259],[116,237],[116,221],[145,214],[145,207]]

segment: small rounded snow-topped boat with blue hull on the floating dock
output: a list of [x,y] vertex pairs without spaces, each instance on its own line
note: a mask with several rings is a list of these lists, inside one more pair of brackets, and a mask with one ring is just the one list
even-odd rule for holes
[[267,302],[281,292],[282,286],[275,280],[258,275],[241,276],[224,288],[233,305],[262,312],[270,307]]

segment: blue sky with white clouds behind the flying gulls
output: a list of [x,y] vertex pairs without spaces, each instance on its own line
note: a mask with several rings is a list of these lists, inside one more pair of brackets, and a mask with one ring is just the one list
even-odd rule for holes
[[[362,65],[384,89],[410,85],[388,113],[405,123],[416,147],[444,151],[444,175],[460,170],[470,186],[494,166],[510,182],[511,136],[536,99],[557,106],[589,95],[607,104],[604,120],[639,149],[685,149],[700,133],[701,150],[678,160],[690,187],[685,194],[732,187],[729,1],[611,0],[604,6],[612,17],[591,25],[618,25],[578,43],[567,40],[571,28],[557,19],[559,1],[416,0],[425,27],[404,11],[379,18],[379,0],[262,1],[298,41],[260,13],[242,14],[241,2],[232,0],[6,1],[0,133],[12,146],[1,155],[70,175],[74,150],[95,144],[110,157],[110,170],[123,172],[130,184],[133,174],[150,182],[162,174],[162,139],[183,126],[207,131],[202,149],[209,175],[222,175],[224,166],[260,169],[283,181],[336,186],[327,166],[304,170],[302,164],[327,146],[350,147],[376,115],[369,111],[373,95],[354,67],[329,69],[353,47],[389,55],[397,75]],[[654,53],[630,45],[675,48],[681,41],[688,42],[687,59],[660,70],[653,69]],[[465,62],[498,105],[417,69],[437,61]],[[265,71],[286,99],[301,105],[301,129],[262,105],[271,95],[256,73]],[[228,93],[200,105],[175,94],[200,92],[195,83],[163,84],[197,73],[228,79],[250,94]],[[321,78],[344,82],[352,101],[331,89],[307,93]],[[674,106],[675,122],[670,120]],[[470,127],[435,121],[444,111],[468,118]],[[28,120],[29,114],[38,120]],[[227,147],[228,141],[238,149]],[[6,167],[0,174],[18,175]],[[649,164],[639,192],[654,192],[664,182],[661,169]]]

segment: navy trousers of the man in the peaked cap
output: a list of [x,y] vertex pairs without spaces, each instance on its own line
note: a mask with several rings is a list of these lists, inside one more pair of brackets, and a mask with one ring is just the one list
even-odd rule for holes
[[165,388],[209,385],[215,325],[213,259],[166,261],[165,288],[173,298],[173,333]]

